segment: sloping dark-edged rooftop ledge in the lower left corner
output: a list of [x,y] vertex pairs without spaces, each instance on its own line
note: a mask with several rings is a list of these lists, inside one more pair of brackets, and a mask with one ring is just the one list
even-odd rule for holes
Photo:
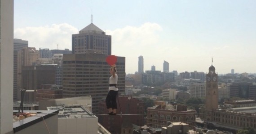
[[[30,117],[26,117],[20,121],[13,122],[13,132],[16,133],[20,130],[23,130],[29,126],[32,126],[40,121],[52,117],[59,113],[58,110],[37,110],[37,111],[24,111],[24,113],[35,113]],[[13,115],[16,115],[18,110],[13,111]]]

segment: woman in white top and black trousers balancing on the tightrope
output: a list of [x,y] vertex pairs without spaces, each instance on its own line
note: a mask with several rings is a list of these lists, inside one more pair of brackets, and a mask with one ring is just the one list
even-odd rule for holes
[[117,88],[118,76],[116,74],[115,64],[111,66],[109,72],[110,72],[111,76],[109,78],[109,88],[108,88],[109,92],[106,96],[106,107],[108,109],[109,115],[116,115],[116,109],[117,109],[116,97],[118,94],[118,88]]

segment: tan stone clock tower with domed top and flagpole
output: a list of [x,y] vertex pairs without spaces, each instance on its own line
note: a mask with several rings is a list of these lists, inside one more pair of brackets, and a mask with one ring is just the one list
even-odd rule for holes
[[205,117],[212,121],[212,111],[218,108],[218,74],[215,67],[209,67],[206,74]]

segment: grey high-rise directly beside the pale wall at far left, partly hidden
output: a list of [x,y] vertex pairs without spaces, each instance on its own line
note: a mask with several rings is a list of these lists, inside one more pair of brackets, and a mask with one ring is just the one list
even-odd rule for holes
[[18,100],[18,51],[23,47],[28,47],[28,41],[13,39],[13,100]]

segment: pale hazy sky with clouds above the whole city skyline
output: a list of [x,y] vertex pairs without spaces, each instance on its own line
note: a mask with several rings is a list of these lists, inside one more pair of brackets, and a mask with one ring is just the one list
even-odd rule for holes
[[[72,48],[91,23],[112,37],[126,73],[169,70],[256,73],[256,0],[14,0],[14,38],[29,47]],[[213,63],[212,63],[213,59]]]

